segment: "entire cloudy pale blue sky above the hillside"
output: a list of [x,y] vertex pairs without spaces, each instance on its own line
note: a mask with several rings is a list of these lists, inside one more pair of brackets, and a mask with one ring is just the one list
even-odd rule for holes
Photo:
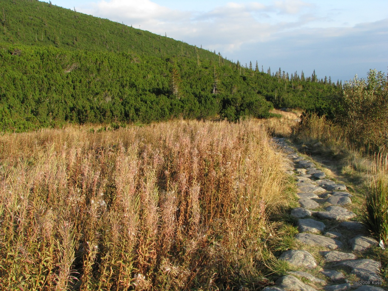
[[[49,2],[49,1],[46,1]],[[332,81],[388,72],[387,0],[52,0],[264,71]]]

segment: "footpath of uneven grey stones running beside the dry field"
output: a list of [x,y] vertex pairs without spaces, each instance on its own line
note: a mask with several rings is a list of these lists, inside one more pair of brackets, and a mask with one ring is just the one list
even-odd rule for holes
[[[286,153],[291,163],[287,173],[297,181],[300,207],[291,210],[300,232],[295,238],[302,244],[320,250],[318,256],[323,267],[317,265],[314,256],[308,251],[285,251],[279,260],[287,261],[300,271],[289,272],[276,281],[276,286],[263,290],[383,291],[380,285],[381,263],[357,258],[353,253],[377,245],[378,242],[367,236],[362,223],[348,221],[356,215],[346,208],[352,204],[352,194],[347,192],[346,185],[327,179],[324,171],[299,156],[284,138],[273,140]],[[327,225],[333,223],[336,231],[327,229]],[[312,273],[321,273],[325,280]]]

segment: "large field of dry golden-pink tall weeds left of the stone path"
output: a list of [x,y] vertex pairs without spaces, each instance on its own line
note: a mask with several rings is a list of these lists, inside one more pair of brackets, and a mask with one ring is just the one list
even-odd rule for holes
[[253,120],[3,135],[0,289],[257,288],[286,184]]

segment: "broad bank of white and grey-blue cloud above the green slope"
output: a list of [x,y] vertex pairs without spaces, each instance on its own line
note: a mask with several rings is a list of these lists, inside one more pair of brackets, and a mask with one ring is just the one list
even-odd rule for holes
[[[316,69],[318,73],[321,66],[323,76],[331,74],[336,78],[338,73],[341,79],[345,63],[349,67],[361,62],[366,62],[365,66],[372,61],[387,62],[382,49],[388,45],[387,20],[344,27],[349,19],[341,14],[342,8],[325,10],[317,7],[316,1],[317,4],[306,1],[275,0],[268,5],[229,2],[203,12],[171,9],[151,0],[100,0],[81,12],[136,28],[140,25],[156,34],[166,32],[169,37],[203,45],[204,49],[219,51],[242,63],[261,59],[262,64],[268,61],[267,66],[274,68],[272,62],[289,66],[289,73],[296,66],[305,72]],[[368,51],[373,53],[368,56]],[[330,73],[330,69],[334,72]]]

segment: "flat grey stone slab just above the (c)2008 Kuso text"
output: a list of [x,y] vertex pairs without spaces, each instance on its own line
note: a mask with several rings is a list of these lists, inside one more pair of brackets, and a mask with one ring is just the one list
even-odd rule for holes
[[361,280],[367,281],[382,281],[379,276],[381,263],[370,259],[342,261],[335,265],[335,267],[349,267],[352,268],[352,274],[355,274]]

